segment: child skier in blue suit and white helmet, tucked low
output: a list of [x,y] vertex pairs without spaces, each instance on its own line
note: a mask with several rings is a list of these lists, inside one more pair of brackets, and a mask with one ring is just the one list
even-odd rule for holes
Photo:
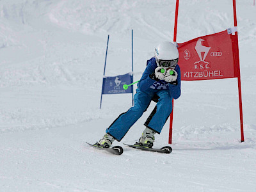
[[155,49],[155,56],[147,61],[147,68],[138,83],[134,95],[134,106],[122,113],[108,127],[103,138],[95,143],[109,148],[114,140],[121,141],[130,127],[141,117],[151,102],[156,107],[145,122],[145,130],[136,145],[153,147],[154,134],[160,134],[172,112],[172,99],[180,97],[180,67],[177,65],[179,51],[171,42],[161,42]]

